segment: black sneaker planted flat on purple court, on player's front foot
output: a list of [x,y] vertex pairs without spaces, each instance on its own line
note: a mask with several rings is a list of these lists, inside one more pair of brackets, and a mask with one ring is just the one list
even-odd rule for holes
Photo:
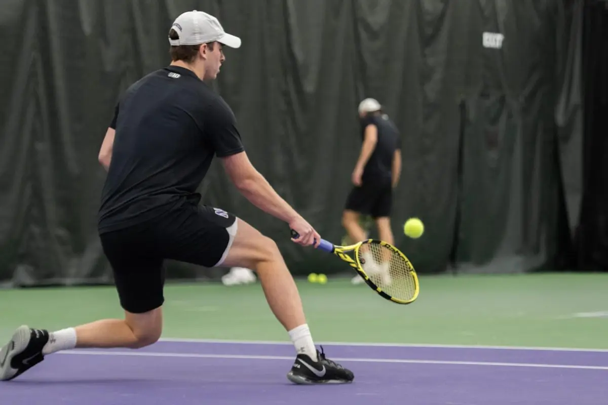
[[352,383],[354,374],[351,370],[325,357],[323,347],[317,350],[319,361],[313,361],[308,355],[300,354],[295,358],[287,378],[295,384],[347,384]]

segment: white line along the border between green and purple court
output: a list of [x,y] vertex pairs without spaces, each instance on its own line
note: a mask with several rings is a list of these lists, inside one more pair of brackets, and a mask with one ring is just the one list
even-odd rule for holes
[[[223,340],[223,339],[182,339],[161,338],[161,342],[213,343],[213,344],[268,344],[292,345],[291,341],[255,341],[255,340]],[[548,350],[554,352],[589,352],[608,353],[608,349],[583,349],[578,347],[534,347],[534,346],[488,346],[488,345],[458,345],[458,344],[418,344],[418,343],[367,343],[367,342],[316,342],[322,345],[361,346],[361,347],[428,347],[429,349],[489,349],[489,350]]]

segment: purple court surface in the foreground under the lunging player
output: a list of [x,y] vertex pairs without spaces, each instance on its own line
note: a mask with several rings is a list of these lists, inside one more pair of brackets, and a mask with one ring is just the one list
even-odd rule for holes
[[47,356],[1,384],[23,404],[599,404],[608,352],[323,345],[353,384],[295,386],[291,344],[161,341],[140,350]]

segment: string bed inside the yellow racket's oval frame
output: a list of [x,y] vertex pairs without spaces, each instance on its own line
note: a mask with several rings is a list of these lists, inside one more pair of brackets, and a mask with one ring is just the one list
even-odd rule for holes
[[357,254],[365,274],[382,291],[404,301],[415,296],[411,266],[399,253],[379,243],[365,243]]

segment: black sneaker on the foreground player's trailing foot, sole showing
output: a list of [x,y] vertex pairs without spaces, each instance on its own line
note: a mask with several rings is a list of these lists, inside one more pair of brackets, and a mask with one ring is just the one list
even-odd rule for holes
[[44,360],[42,349],[49,341],[49,332],[19,327],[0,350],[0,381],[21,375]]

